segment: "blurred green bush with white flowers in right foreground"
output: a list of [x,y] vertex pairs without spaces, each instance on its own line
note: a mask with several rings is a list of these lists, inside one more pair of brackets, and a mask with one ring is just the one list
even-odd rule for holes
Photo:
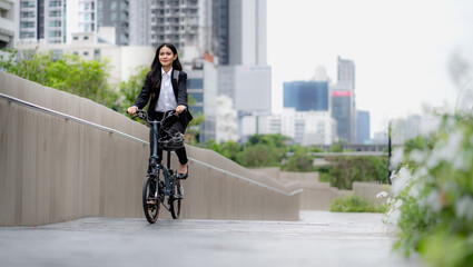
[[[433,266],[473,263],[473,118],[443,116],[440,127],[395,151],[388,221],[400,227],[395,248],[417,251]],[[394,156],[394,155],[393,155]]]

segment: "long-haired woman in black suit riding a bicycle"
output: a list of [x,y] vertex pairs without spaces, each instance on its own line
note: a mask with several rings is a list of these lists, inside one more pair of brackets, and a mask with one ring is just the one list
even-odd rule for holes
[[[183,71],[177,49],[171,43],[162,43],[156,50],[155,59],[150,71],[146,75],[145,83],[141,88],[134,106],[128,108],[128,113],[135,115],[138,109],[142,109],[149,98],[148,115],[151,120],[161,120],[164,115],[174,110],[179,119],[170,127],[169,131],[178,131],[184,135],[186,127],[193,116],[187,106],[187,73]],[[150,128],[149,139],[152,148],[152,128]],[[186,148],[176,150],[179,159],[178,177],[186,179],[189,169],[187,166]],[[162,149],[158,146],[159,162],[162,160]]]

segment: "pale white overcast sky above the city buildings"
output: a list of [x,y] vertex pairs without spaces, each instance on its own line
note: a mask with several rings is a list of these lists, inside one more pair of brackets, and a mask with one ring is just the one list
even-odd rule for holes
[[356,105],[373,134],[425,103],[453,107],[449,62],[457,53],[473,63],[470,0],[267,0],[267,14],[275,112],[284,81],[309,80],[317,66],[336,81],[341,56],[355,61]]

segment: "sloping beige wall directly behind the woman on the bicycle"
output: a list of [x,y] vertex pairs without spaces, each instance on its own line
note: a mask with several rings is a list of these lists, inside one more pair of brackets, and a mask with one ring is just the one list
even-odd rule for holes
[[[148,140],[148,129],[122,115],[2,71],[0,92]],[[187,148],[183,218],[298,219],[295,185]],[[148,155],[140,142],[0,98],[0,226],[142,218]],[[161,216],[169,218],[165,209]]]

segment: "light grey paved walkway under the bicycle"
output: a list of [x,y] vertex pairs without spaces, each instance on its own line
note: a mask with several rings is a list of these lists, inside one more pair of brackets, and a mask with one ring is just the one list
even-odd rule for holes
[[0,266],[420,266],[391,253],[378,214],[300,221],[85,218],[0,228]]

